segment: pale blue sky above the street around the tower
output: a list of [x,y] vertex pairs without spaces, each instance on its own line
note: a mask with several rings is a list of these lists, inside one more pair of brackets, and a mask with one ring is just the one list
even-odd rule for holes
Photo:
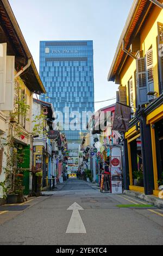
[[[39,70],[41,40],[93,40],[95,101],[116,96],[107,81],[132,0],[9,0]],[[99,109],[114,103],[95,103]]]

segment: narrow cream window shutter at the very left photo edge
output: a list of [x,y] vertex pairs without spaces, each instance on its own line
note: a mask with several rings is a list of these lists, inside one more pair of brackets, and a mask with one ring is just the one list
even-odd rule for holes
[[5,71],[7,44],[0,44],[0,103],[5,102]]

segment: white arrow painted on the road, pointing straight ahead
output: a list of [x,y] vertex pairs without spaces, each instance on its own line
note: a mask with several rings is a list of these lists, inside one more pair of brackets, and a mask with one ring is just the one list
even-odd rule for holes
[[74,203],[67,210],[71,210],[72,216],[67,227],[66,233],[68,234],[85,234],[86,229],[82,218],[79,214],[79,210],[84,210],[79,204]]

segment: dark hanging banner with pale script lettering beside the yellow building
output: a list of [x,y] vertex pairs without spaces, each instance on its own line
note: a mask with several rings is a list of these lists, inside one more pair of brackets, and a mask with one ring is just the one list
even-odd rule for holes
[[130,120],[131,120],[131,107],[117,102],[112,130],[127,132],[129,129]]

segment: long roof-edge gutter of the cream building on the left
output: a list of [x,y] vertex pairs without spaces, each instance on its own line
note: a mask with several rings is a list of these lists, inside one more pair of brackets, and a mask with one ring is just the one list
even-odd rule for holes
[[[11,21],[12,25],[14,26],[14,29],[15,29],[17,35],[18,35],[18,39],[20,39],[20,42],[21,42],[21,44],[22,44],[22,47],[24,48],[24,51],[25,51],[25,53],[26,53],[26,55],[27,55],[27,58],[28,58],[28,60],[31,61],[31,65],[32,65],[34,74],[35,74],[35,76],[36,76],[36,78],[37,78],[37,81],[38,81],[39,84],[40,84],[40,88],[41,88],[41,90],[42,90],[43,93],[46,93],[46,89],[44,88],[43,83],[42,83],[42,81],[41,81],[41,78],[40,78],[40,76],[39,76],[39,73],[38,73],[38,71],[37,71],[37,69],[36,69],[36,66],[35,66],[35,63],[34,63],[32,54],[30,53],[29,48],[28,48],[28,46],[27,46],[27,43],[26,43],[26,41],[25,41],[25,39],[24,39],[24,37],[23,37],[23,34],[22,34],[22,32],[21,32],[21,29],[20,29],[20,27],[18,26],[18,23],[17,23],[17,21],[16,21],[15,15],[14,15],[14,13],[13,13],[11,7],[10,7],[9,1],[8,1],[8,0],[2,0],[2,3],[3,3],[3,5],[4,5],[4,7],[5,7],[5,10],[7,11],[8,15],[9,15],[9,18],[10,18],[10,21]],[[27,64],[27,65],[28,65],[28,64]],[[24,67],[24,68],[25,68],[25,67]]]

